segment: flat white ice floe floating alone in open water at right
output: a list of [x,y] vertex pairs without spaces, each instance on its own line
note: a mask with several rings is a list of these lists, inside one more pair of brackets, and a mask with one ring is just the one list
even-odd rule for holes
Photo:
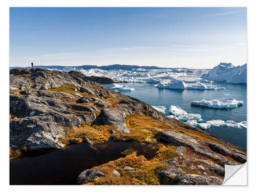
[[238,101],[233,98],[218,98],[212,100],[202,99],[201,101],[191,101],[191,104],[207,106],[208,108],[236,108],[243,103],[243,101]]

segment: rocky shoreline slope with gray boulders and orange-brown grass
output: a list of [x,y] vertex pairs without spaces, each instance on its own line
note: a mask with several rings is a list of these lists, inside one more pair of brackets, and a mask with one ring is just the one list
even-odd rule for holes
[[93,146],[110,139],[159,145],[152,160],[131,154],[78,176],[79,184],[114,185],[220,185],[225,164],[246,162],[243,148],[98,82],[113,81],[76,71],[11,69],[10,157],[81,142]]

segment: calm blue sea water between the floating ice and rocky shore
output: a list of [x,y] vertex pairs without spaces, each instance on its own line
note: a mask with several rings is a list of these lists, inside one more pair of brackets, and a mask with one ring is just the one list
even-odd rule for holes
[[[225,87],[224,90],[170,90],[155,88],[155,83],[118,83],[135,91],[123,92],[125,95],[140,99],[150,105],[165,106],[169,109],[169,105],[178,105],[187,113],[197,113],[202,115],[202,123],[212,120],[233,120],[236,122],[247,121],[247,87],[246,84],[230,84],[225,82],[214,82]],[[107,84],[105,84],[107,85]],[[233,109],[211,109],[202,108],[200,106],[191,105],[190,101],[194,100],[211,100],[221,97],[234,98],[236,100],[244,101],[242,106]],[[168,111],[164,113],[169,115]],[[231,144],[247,148],[247,130],[245,128],[213,126],[205,132],[216,135],[219,138]]]

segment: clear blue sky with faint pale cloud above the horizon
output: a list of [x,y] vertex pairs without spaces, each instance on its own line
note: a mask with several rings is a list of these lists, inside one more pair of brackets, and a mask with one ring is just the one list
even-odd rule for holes
[[246,8],[10,8],[10,66],[246,63]]

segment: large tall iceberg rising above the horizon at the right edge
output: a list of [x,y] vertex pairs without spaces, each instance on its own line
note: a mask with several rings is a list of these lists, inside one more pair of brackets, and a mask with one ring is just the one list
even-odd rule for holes
[[228,83],[246,83],[247,82],[247,64],[234,67],[232,63],[221,62],[202,78],[214,81],[225,81]]

